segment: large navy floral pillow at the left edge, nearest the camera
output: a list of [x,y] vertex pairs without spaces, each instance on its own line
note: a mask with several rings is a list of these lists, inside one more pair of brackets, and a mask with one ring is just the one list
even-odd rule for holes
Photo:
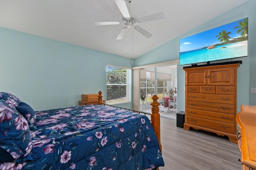
[[16,109],[3,102],[0,102],[0,127],[2,149],[17,163],[33,160],[28,122]]

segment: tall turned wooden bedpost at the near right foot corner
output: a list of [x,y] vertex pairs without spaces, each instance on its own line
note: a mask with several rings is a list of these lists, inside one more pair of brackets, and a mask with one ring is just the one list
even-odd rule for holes
[[150,103],[151,107],[151,124],[152,127],[156,133],[156,138],[158,140],[160,149],[162,150],[162,145],[161,145],[161,138],[160,138],[160,114],[159,114],[159,105],[160,103],[157,102],[159,99],[156,95],[152,97],[153,102]]

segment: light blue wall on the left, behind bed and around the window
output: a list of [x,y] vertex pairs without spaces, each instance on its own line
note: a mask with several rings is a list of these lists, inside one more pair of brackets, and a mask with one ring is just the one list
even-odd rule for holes
[[81,94],[106,96],[106,64],[132,68],[128,58],[0,27],[0,92],[36,111],[77,106]]

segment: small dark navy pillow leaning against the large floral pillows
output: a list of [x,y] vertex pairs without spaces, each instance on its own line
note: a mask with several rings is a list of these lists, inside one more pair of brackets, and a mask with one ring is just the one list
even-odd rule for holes
[[32,107],[24,102],[20,102],[20,104],[16,106],[16,109],[28,121],[29,127],[34,125],[36,121],[36,114]]

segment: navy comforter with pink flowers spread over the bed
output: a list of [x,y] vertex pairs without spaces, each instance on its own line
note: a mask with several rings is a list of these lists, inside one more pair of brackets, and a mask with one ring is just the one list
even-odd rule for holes
[[144,170],[164,166],[149,119],[121,109],[87,105],[38,111],[30,135],[37,158],[16,163],[18,169]]

